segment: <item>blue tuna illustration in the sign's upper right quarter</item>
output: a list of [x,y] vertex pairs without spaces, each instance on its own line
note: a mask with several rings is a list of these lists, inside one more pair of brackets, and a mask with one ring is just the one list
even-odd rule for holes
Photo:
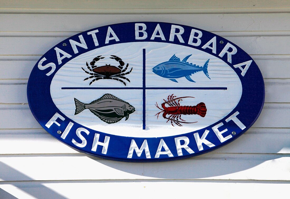
[[197,73],[199,71],[203,71],[204,74],[209,78],[209,73],[207,71],[207,67],[209,65],[209,60],[207,60],[203,67],[198,66],[196,64],[192,64],[187,62],[187,59],[191,55],[186,56],[182,61],[180,58],[176,57],[175,54],[167,61],[162,62],[155,67],[153,67],[152,71],[156,75],[160,77],[169,78],[173,82],[177,82],[176,78],[185,77],[187,80],[191,82],[195,82],[191,79],[191,74]]

